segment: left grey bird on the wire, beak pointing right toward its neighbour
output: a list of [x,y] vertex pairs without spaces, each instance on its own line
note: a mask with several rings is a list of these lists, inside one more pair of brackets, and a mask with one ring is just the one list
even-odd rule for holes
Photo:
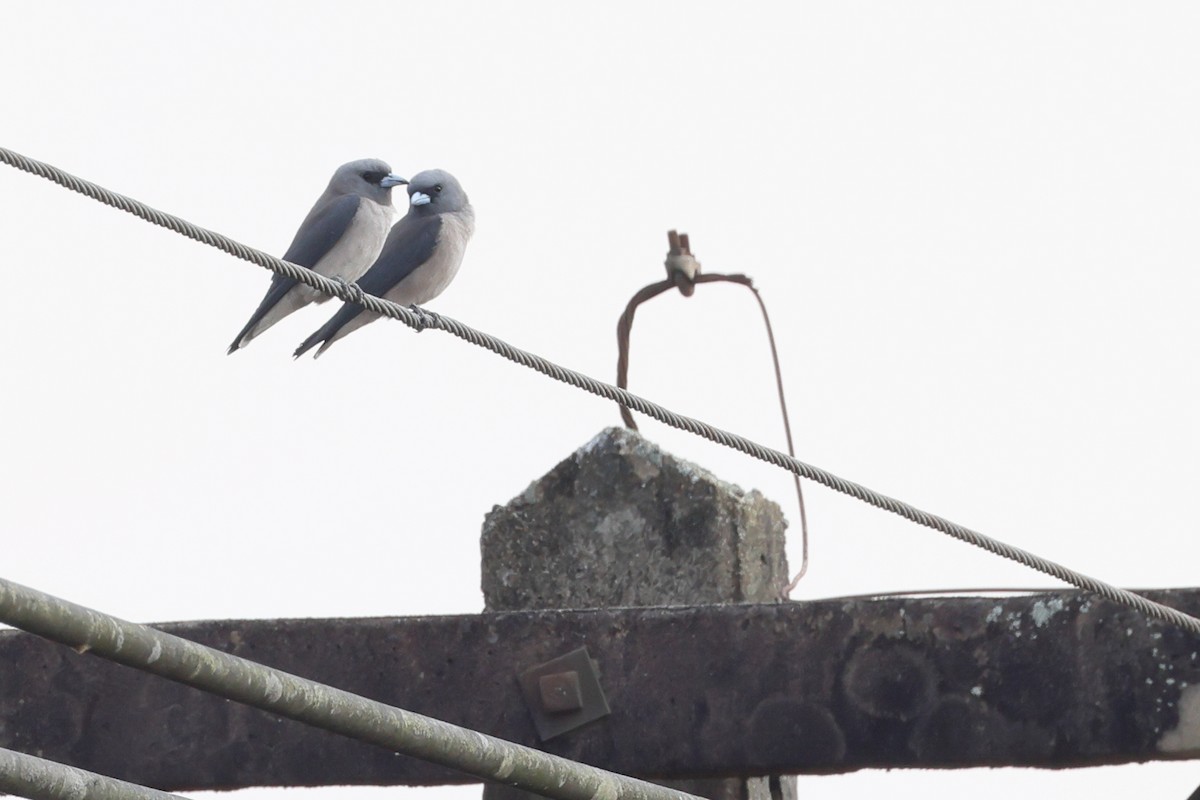
[[[300,223],[283,260],[307,266],[329,278],[356,279],[379,255],[395,218],[391,187],[407,182],[378,158],[342,164]],[[229,345],[229,353],[246,347],[292,312],[326,300],[328,295],[294,278],[272,276],[266,296]]]

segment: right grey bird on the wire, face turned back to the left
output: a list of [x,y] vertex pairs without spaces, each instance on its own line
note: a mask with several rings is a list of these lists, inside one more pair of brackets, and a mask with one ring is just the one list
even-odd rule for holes
[[[358,285],[366,294],[402,306],[421,305],[450,285],[475,231],[475,211],[454,175],[430,169],[408,184],[408,213],[388,234],[379,258]],[[300,357],[317,344],[316,356],[379,314],[348,302],[296,348]]]

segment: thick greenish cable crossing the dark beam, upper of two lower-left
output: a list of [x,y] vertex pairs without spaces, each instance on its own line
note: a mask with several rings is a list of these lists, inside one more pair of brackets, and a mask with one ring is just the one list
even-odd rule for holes
[[0,578],[0,621],[238,703],[558,800],[701,800],[397,709]]

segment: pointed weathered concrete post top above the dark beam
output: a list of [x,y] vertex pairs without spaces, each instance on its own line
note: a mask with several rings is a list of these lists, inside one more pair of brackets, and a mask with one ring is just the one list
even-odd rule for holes
[[607,428],[484,522],[487,610],[770,602],[784,515]]

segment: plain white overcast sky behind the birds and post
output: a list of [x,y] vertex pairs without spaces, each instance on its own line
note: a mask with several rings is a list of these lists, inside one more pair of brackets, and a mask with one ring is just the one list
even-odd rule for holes
[[[430,307],[606,380],[677,227],[762,289],[800,458],[1121,585],[1194,585],[1200,6],[772,8],[6,4],[0,144],[276,254],[342,162],[449,169],[478,229]],[[0,573],[70,600],[144,621],[476,612],[484,513],[619,422],[395,323],[294,363],[329,305],[226,356],[263,270],[7,167],[0,215]],[[660,299],[634,339],[635,391],[781,444],[749,293]],[[794,517],[787,474],[643,432]],[[798,599],[1056,585],[808,498]],[[1180,763],[800,790],[1196,784]]]

